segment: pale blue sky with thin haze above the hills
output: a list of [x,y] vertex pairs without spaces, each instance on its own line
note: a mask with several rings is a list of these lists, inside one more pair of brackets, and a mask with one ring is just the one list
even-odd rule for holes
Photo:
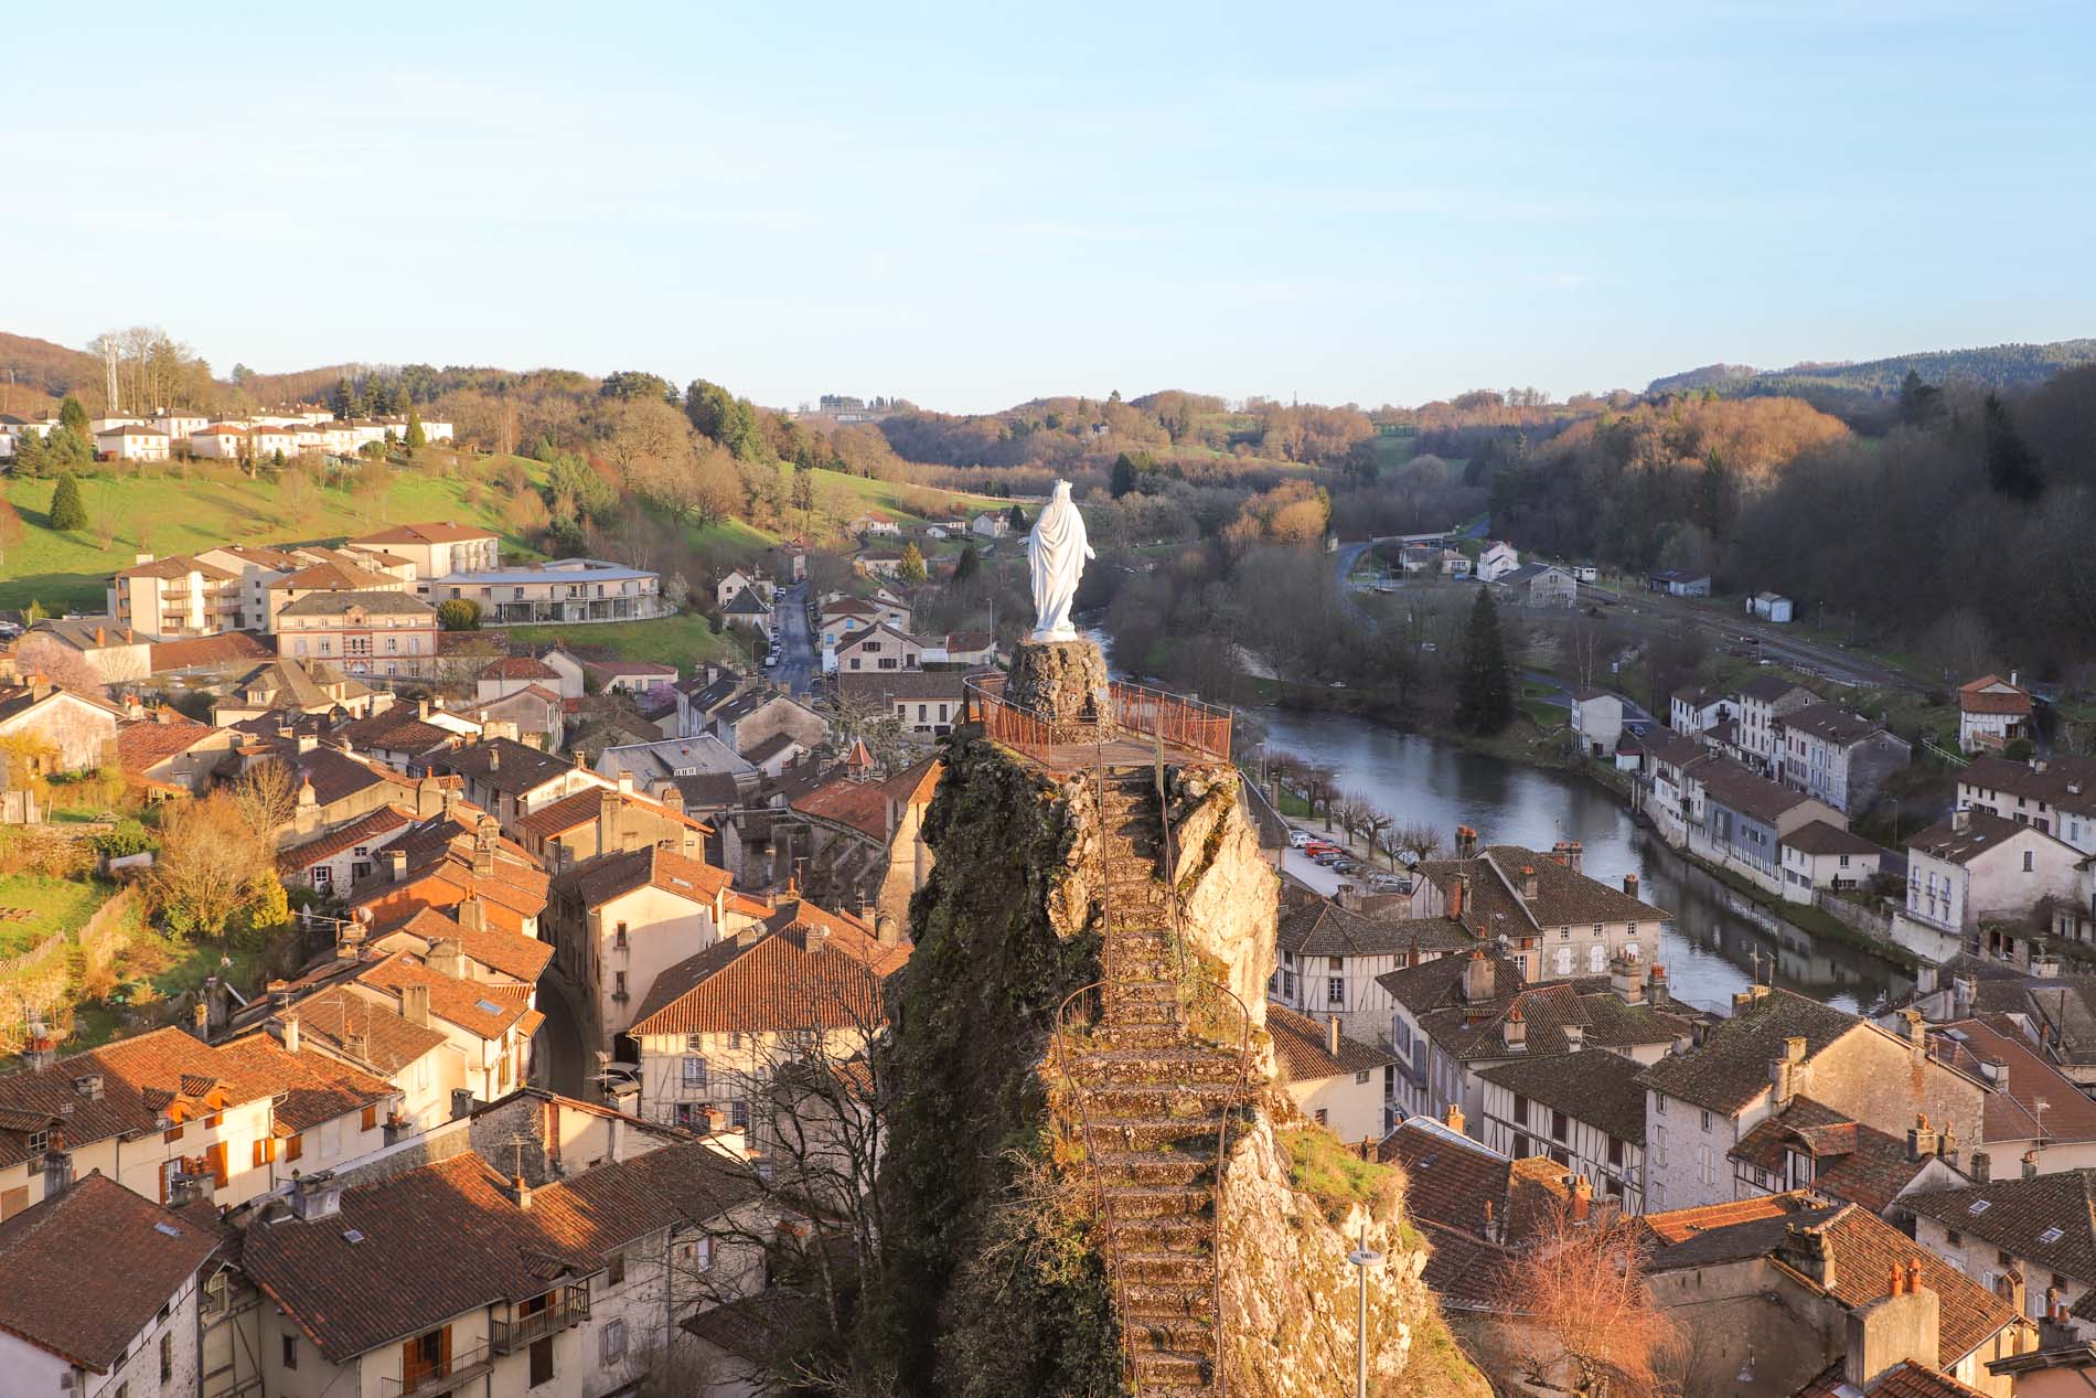
[[2090,4],[42,8],[0,329],[218,371],[1377,405],[2096,333]]

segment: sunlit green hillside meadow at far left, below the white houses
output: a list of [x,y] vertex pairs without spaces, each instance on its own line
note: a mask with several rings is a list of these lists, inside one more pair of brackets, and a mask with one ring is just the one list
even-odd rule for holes
[[[528,467],[543,476],[537,463]],[[505,549],[532,553],[503,524],[507,497],[478,486],[482,499],[470,505],[465,495],[474,488],[465,480],[407,469],[394,472],[392,488],[379,501],[325,488],[314,490],[310,509],[293,516],[275,480],[243,480],[224,467],[199,465],[189,478],[174,472],[84,476],[80,493],[88,526],[59,532],[48,526],[57,482],[8,478],[0,497],[21,514],[27,537],[0,560],[0,608],[34,599],[50,612],[99,612],[109,574],[128,568],[138,553],[166,558],[222,543],[340,539],[411,520],[484,524],[503,534]]]

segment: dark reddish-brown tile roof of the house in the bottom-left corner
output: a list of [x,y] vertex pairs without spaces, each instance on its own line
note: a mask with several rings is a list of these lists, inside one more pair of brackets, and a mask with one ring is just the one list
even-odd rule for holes
[[109,1373],[218,1245],[216,1230],[92,1172],[0,1224],[0,1331]]

